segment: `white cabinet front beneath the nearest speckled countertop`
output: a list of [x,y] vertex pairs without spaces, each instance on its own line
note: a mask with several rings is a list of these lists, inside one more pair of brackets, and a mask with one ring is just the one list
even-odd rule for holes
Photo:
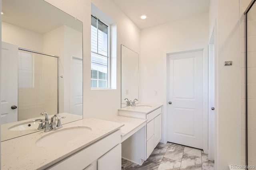
[[48,170],[120,170],[120,130],[100,139],[92,145],[64,158]]

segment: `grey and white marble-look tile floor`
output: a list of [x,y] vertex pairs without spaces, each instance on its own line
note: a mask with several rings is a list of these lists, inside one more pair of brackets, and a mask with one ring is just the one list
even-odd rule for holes
[[214,170],[214,162],[201,149],[159,143],[141,166],[122,159],[122,170]]

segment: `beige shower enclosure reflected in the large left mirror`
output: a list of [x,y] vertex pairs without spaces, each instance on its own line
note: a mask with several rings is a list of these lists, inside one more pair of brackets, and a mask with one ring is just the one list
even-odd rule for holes
[[58,113],[58,57],[18,50],[18,121]]

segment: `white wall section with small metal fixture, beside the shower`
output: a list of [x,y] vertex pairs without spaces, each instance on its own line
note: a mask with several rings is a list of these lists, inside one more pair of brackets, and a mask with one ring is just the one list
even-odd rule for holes
[[[239,0],[211,0],[209,26],[215,24],[216,169],[240,165],[240,6]],[[209,35],[210,37],[210,35]],[[233,61],[224,66],[224,61]]]

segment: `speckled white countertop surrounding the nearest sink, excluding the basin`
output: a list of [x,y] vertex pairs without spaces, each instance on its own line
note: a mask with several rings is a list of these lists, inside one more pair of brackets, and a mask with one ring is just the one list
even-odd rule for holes
[[90,118],[67,123],[63,125],[63,128],[61,129],[76,126],[90,127],[92,129],[92,133],[87,136],[81,135],[79,143],[62,144],[60,141],[58,146],[51,147],[36,146],[35,143],[40,137],[52,133],[45,133],[43,131],[1,142],[1,169],[41,170],[48,168],[75,152],[88,147],[99,139],[106,137],[117,129],[120,129],[124,126],[124,123]]

